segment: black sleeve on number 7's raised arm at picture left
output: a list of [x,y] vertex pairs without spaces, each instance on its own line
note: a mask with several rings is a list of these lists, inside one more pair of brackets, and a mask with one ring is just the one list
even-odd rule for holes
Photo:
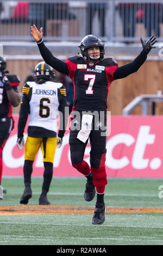
[[68,67],[65,62],[62,62],[60,59],[55,58],[43,42],[37,45],[39,47],[42,58],[48,65],[52,66],[52,68],[57,70],[58,72],[68,75]]

